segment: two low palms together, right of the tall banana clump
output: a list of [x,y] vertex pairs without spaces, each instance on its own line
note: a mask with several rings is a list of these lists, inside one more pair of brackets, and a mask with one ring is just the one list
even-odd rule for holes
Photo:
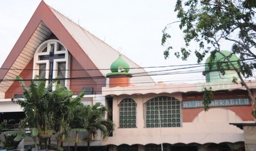
[[72,111],[73,119],[70,123],[72,130],[75,131],[75,151],[77,150],[78,133],[86,132],[87,150],[90,150],[90,141],[96,140],[101,132],[103,139],[110,136],[115,125],[113,121],[105,118],[106,114],[111,114],[111,110],[101,103],[97,102],[90,106],[89,104],[80,104]]

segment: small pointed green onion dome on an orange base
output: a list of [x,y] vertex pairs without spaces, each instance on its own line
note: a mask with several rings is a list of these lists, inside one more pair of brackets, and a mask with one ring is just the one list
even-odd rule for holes
[[123,60],[122,56],[119,55],[118,59],[114,61],[110,66],[111,72],[126,72],[128,73],[130,67],[126,61]]

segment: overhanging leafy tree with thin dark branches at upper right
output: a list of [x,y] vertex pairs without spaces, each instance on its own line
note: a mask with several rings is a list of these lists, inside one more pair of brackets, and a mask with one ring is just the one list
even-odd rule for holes
[[[254,102],[254,108],[256,108],[255,98],[242,78],[242,76],[252,77],[253,70],[256,68],[255,1],[177,0],[175,11],[179,21],[168,24],[162,31],[162,45],[167,47],[164,51],[165,59],[173,53],[176,57],[187,60],[194,53],[197,56],[197,62],[200,63],[208,53],[214,59],[215,54],[220,53],[221,44],[227,41],[231,42],[231,55],[238,55],[239,61],[229,63],[232,67],[235,63],[239,63],[240,68],[235,70],[242,85],[246,86],[249,96]],[[168,42],[168,39],[171,38],[168,27],[176,22],[179,23],[179,28],[184,34],[185,46],[178,51],[173,51],[171,41]],[[191,50],[189,48],[191,43],[196,43],[197,49]],[[229,61],[228,57],[226,56],[227,61]],[[225,74],[223,71],[221,73]],[[253,113],[253,115],[255,114]]]

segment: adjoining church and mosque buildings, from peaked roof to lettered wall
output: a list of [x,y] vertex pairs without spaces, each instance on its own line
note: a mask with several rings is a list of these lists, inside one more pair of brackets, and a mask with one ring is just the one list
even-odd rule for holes
[[[238,60],[230,51],[221,53]],[[218,66],[226,60],[215,55],[214,62],[206,60],[205,83],[156,84],[144,68],[41,1],[0,69],[0,121],[8,130],[24,117],[22,108],[11,102],[23,94],[19,82],[12,80],[17,75],[27,79],[26,84],[35,75],[46,79],[59,75],[60,83],[74,95],[86,90],[82,103],[100,102],[112,109],[115,130],[107,140],[92,141],[94,149],[256,148],[252,101],[241,84],[232,83],[237,76],[234,68],[225,63]],[[226,74],[220,74],[220,69]],[[247,85],[255,97],[255,81]],[[214,93],[207,112],[202,103],[204,88]],[[78,146],[86,144],[81,141]]]

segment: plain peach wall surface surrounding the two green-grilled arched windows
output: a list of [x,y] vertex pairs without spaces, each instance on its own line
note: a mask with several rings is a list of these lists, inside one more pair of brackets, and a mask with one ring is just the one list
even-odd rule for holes
[[[115,131],[113,136],[108,137],[106,141],[102,141],[102,145],[115,144],[160,144],[160,143],[220,143],[220,142],[239,142],[243,141],[243,131],[238,127],[230,125],[230,121],[241,122],[242,119],[238,115],[225,108],[210,109],[204,112],[203,108],[184,109],[182,116],[188,116],[189,111],[193,112],[194,118],[197,120],[186,122],[183,121],[182,127],[155,127],[146,128],[144,126],[144,103],[150,98],[163,96],[155,95],[131,95],[131,96],[115,96],[113,97],[113,121],[115,123]],[[181,94],[172,96],[181,99]],[[132,98],[137,103],[136,128],[124,129],[119,128],[119,106],[118,104],[124,98]],[[243,108],[244,109],[244,108]],[[186,113],[187,112],[187,113]],[[184,115],[185,114],[185,115]],[[204,119],[207,117],[208,119]],[[194,119],[190,118],[190,119]],[[213,119],[211,119],[213,118]]]

